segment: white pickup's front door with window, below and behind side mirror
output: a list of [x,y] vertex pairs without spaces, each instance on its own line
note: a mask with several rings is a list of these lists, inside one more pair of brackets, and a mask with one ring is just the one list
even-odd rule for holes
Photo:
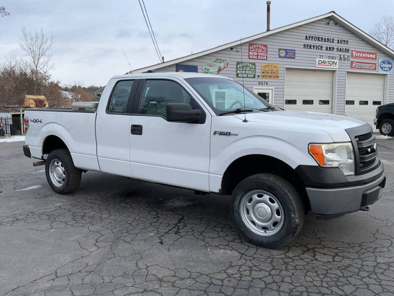
[[[168,122],[168,103],[200,109],[200,122]],[[209,191],[210,127],[211,115],[181,80],[141,79],[129,126],[132,177]]]

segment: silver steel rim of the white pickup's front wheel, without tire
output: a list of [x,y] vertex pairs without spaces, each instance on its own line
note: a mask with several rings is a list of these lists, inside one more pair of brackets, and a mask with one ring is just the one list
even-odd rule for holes
[[247,192],[239,203],[242,222],[258,235],[269,236],[283,226],[284,212],[279,200],[264,190]]

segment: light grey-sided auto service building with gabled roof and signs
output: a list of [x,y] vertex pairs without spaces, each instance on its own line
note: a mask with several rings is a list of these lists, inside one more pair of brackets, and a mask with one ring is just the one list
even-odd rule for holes
[[131,73],[205,72],[240,83],[243,76],[245,87],[273,105],[373,126],[377,106],[394,102],[393,58],[393,50],[331,11]]

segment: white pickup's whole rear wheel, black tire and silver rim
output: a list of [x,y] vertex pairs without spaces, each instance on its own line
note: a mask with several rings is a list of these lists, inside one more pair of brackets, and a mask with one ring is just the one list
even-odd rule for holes
[[81,183],[81,170],[74,166],[67,149],[49,153],[45,161],[45,175],[49,186],[60,194],[75,191]]

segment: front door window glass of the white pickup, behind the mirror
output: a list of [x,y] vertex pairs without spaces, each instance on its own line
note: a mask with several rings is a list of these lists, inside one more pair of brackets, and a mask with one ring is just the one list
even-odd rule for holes
[[166,106],[169,103],[186,103],[192,107],[197,105],[183,87],[174,81],[146,80],[139,113],[161,115],[166,118]]

